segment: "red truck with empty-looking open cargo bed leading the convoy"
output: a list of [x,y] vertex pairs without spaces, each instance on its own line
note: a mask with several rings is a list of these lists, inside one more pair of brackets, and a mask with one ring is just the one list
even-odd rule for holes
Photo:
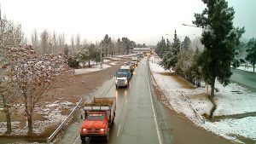
[[109,140],[109,130],[115,117],[115,97],[94,98],[84,105],[84,124],[80,131],[81,141],[86,137]]

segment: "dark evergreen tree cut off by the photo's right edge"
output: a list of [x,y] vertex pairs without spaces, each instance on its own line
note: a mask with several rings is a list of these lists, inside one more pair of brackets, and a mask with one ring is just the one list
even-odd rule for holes
[[255,72],[255,64],[256,64],[256,39],[253,37],[247,43],[247,57],[248,60],[253,65],[253,72]]

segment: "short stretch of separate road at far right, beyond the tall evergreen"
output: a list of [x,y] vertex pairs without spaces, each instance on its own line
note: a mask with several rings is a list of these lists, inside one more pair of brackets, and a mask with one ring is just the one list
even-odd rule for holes
[[232,69],[232,72],[233,74],[230,77],[232,81],[256,89],[256,72],[247,72],[237,69]]

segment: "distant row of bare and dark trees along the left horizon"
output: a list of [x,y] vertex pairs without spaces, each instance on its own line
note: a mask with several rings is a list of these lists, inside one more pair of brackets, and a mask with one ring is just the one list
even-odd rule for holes
[[[65,34],[57,34],[56,32],[49,32],[44,30],[39,33],[34,30],[31,35],[32,46],[38,49],[38,52],[42,55],[44,54],[54,54],[58,52],[64,52],[68,55],[76,55],[80,50],[84,50],[84,47],[88,47],[91,43],[88,43],[86,39],[81,41],[79,33],[74,37],[72,35],[70,39],[70,45],[67,45]],[[145,43],[135,43],[127,37],[118,38],[114,40],[109,37],[108,34],[103,37],[100,43],[94,43],[96,48],[101,47],[105,56],[107,55],[117,55],[117,54],[128,54],[131,49],[135,47],[146,47]]]

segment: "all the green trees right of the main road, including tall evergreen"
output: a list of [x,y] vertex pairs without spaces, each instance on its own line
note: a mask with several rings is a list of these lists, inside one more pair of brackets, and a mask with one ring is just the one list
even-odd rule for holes
[[[190,82],[200,82],[203,78],[211,84],[213,96],[216,79],[224,86],[230,83],[230,66],[236,68],[247,60],[253,65],[254,71],[256,40],[251,38],[247,43],[240,43],[241,34],[245,32],[244,27],[233,26],[235,10],[229,8],[225,0],[202,2],[207,4],[207,9],[202,14],[195,14],[193,24],[203,29],[201,43],[204,49],[186,49],[190,45],[189,38],[180,43],[175,31],[173,43],[162,37],[155,51],[163,59],[161,65],[166,69],[174,69]],[[245,60],[241,58],[241,51],[247,52]]]

